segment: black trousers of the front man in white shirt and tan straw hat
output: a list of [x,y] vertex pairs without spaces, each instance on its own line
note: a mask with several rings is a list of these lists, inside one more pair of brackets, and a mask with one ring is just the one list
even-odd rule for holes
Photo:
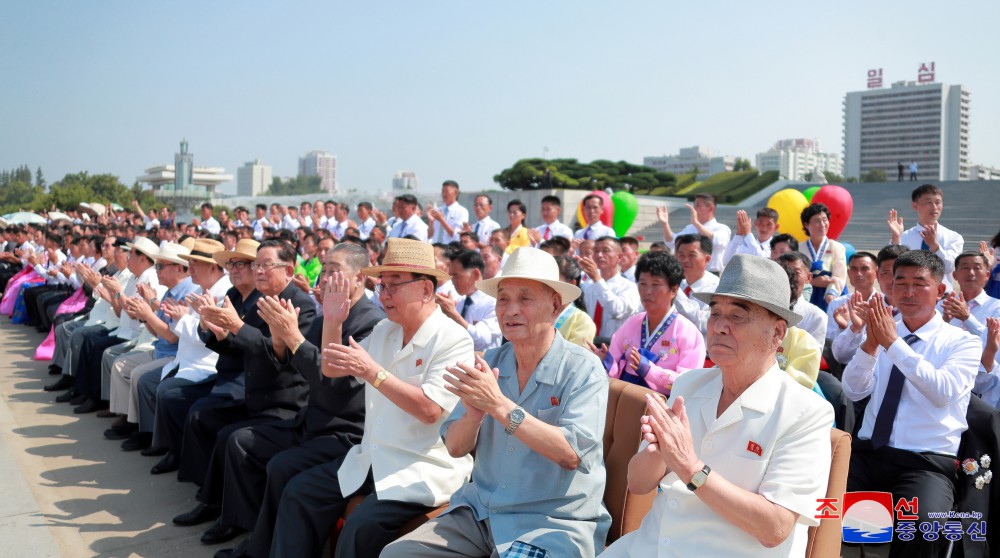
[[[270,541],[254,529],[249,555],[272,558],[318,558],[330,530],[344,515],[351,497],[360,494],[365,501],[344,523],[334,556],[377,558],[399,529],[410,519],[430,511],[431,507],[413,502],[379,500],[371,472],[368,480],[354,494],[341,494],[337,470],[343,459],[304,471],[285,487],[278,504],[278,515]],[[266,544],[266,546],[265,546]]]

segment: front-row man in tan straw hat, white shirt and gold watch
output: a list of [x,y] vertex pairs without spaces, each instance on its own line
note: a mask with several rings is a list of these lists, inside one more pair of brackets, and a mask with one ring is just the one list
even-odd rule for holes
[[430,244],[401,238],[389,240],[383,265],[364,273],[381,278],[376,290],[388,319],[361,344],[341,344],[346,282],[334,280],[323,297],[323,374],[365,383],[364,435],[345,458],[288,483],[272,557],[318,557],[354,495],[365,500],[344,524],[335,555],[378,556],[404,523],[447,502],[472,470],[472,458],[449,455],[440,434],[458,404],[445,388],[445,367],[473,364],[472,338],[435,301],[448,274],[436,268]]

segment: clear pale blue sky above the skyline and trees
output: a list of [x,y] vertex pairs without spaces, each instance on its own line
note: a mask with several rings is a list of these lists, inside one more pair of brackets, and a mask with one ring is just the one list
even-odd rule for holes
[[[961,6],[959,8],[958,6]],[[0,168],[235,175],[338,157],[341,187],[493,187],[522,157],[642,162],[782,138],[841,151],[841,102],[936,62],[1000,166],[1000,2],[0,2]],[[235,181],[227,188],[235,189]]]

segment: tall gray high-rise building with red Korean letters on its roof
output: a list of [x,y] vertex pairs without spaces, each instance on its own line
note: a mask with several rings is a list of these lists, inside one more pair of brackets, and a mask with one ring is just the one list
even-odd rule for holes
[[908,174],[916,163],[921,180],[968,179],[969,92],[929,75],[844,97],[846,177],[883,170],[894,178],[897,165]]

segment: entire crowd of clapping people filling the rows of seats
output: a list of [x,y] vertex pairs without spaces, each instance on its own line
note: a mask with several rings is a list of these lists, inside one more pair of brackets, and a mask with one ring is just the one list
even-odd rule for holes
[[917,498],[920,521],[957,505],[970,401],[1000,403],[1000,234],[964,252],[937,187],[851,253],[822,204],[740,210],[734,233],[699,194],[640,253],[601,196],[574,231],[557,196],[533,226],[459,193],[353,219],[88,205],[3,229],[0,312],[48,334],[57,401],[194,485],[173,523],[246,534],[216,556],[319,556],[335,529],[336,556],[600,554],[610,379],[649,390],[628,486],[658,493],[609,556],[802,555],[831,427],[854,435],[849,491]]

